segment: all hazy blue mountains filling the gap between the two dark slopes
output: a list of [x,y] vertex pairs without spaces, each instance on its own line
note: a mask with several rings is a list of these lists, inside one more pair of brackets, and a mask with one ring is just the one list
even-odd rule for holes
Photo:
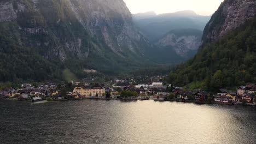
[[[133,15],[135,26],[158,47],[161,62],[179,63],[192,57],[201,44],[210,16],[184,10],[156,15],[154,11]],[[168,55],[167,55],[168,53]]]

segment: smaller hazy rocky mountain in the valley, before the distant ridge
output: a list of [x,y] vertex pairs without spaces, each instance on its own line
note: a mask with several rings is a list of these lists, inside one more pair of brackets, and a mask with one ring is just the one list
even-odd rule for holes
[[202,31],[197,29],[177,29],[168,32],[156,45],[162,49],[173,49],[178,56],[194,56],[201,44]]

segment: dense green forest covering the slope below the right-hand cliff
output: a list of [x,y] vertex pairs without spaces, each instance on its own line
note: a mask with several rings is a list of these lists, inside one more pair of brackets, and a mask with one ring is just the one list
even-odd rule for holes
[[[174,85],[207,91],[256,81],[256,19],[230,32],[217,43],[204,46],[170,74]],[[195,86],[195,83],[197,86]]]

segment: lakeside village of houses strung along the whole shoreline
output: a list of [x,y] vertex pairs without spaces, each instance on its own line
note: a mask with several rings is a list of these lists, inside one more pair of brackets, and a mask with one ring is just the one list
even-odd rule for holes
[[222,88],[219,89],[218,93],[210,94],[200,89],[184,91],[182,87],[163,85],[162,82],[132,86],[130,82],[117,81],[108,87],[98,83],[89,85],[81,82],[44,83],[39,86],[24,83],[18,89],[4,88],[0,91],[0,100],[11,99],[32,102],[80,99],[158,100],[199,104],[256,105],[255,94],[256,85],[254,84],[240,86],[236,92]]

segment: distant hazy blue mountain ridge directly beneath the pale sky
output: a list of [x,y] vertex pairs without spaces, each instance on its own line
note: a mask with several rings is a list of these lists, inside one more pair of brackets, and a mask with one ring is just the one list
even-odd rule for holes
[[[133,17],[136,17],[133,15]],[[198,29],[205,28],[210,16],[197,15],[194,11],[185,10],[176,13],[159,14],[147,19],[133,19],[136,27],[150,41],[158,41],[167,32],[176,29]]]

